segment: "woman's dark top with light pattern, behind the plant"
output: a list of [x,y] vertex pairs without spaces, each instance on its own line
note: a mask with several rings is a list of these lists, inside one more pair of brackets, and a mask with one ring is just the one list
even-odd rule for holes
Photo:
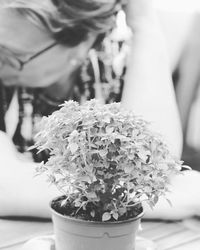
[[[106,37],[101,46],[90,50],[88,58],[78,71],[72,94],[65,100],[73,99],[80,103],[91,98],[104,103],[120,101],[127,53],[126,42]],[[17,93],[19,112],[12,139],[19,152],[24,153],[34,143],[35,125],[39,119],[57,110],[64,100],[55,102],[38,88],[5,87],[0,82],[0,130],[7,130],[5,115],[14,93]],[[32,157],[35,161],[47,159],[46,154],[36,154],[34,151]]]

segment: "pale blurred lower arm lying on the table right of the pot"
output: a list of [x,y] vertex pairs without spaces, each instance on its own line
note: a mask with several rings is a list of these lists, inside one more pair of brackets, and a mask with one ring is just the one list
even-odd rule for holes
[[179,220],[192,216],[200,216],[200,172],[184,171],[182,175],[172,179],[167,195],[172,206],[161,198],[153,210],[146,208],[146,218]]

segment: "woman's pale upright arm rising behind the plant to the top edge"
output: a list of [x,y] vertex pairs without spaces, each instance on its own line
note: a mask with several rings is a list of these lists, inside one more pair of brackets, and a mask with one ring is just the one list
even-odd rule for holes
[[152,0],[129,0],[127,22],[133,38],[122,103],[152,122],[171,152],[180,157],[181,125],[165,42]]

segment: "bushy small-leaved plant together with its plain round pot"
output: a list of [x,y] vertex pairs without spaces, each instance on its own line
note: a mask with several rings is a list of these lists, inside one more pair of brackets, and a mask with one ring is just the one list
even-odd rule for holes
[[61,191],[51,202],[56,250],[133,250],[143,216],[180,173],[149,124],[120,103],[65,102],[39,124],[37,168]]

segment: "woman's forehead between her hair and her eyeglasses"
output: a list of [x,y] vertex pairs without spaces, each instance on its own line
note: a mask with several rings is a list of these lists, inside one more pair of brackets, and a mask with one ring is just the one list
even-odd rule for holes
[[19,12],[0,9],[0,44],[16,50],[38,51],[50,44],[53,38],[50,32],[39,28]]

